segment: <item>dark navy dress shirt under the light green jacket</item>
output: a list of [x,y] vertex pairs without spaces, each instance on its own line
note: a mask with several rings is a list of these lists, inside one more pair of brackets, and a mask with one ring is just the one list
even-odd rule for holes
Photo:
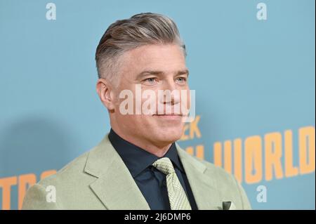
[[[124,140],[112,129],[109,134],[109,139],[129,169],[131,176],[133,176],[150,209],[170,209],[168,190],[166,187],[166,174],[152,166],[152,164],[160,158]],[[187,194],[192,210],[197,210],[197,204],[193,197],[187,176],[185,175],[183,165],[178,157],[175,143],[171,145],[164,157],[168,157],[171,160],[176,175]]]

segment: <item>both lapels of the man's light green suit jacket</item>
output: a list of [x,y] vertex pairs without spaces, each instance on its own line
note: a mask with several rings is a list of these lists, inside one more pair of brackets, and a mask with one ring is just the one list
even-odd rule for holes
[[[218,209],[216,182],[205,174],[205,164],[176,147],[198,209]],[[150,209],[108,135],[88,153],[84,171],[96,177],[91,190],[107,209]]]

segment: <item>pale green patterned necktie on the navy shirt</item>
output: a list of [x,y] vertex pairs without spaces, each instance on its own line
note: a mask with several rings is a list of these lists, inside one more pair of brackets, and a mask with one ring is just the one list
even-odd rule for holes
[[191,210],[190,202],[176,175],[172,162],[169,158],[158,159],[152,164],[159,171],[166,174],[166,185],[168,190],[171,210]]

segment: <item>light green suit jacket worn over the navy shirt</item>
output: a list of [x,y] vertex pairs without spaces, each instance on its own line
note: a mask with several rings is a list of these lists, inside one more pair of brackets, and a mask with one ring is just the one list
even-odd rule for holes
[[[223,169],[176,144],[198,209],[251,209],[242,186]],[[47,200],[55,188],[55,200]],[[46,192],[48,190],[48,192]],[[49,198],[49,197],[48,197]],[[22,209],[150,209],[108,136],[89,152],[27,190]]]

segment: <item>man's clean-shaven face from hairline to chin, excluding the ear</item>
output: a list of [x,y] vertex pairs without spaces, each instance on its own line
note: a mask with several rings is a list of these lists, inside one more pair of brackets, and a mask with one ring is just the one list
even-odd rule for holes
[[[155,145],[166,145],[178,140],[183,132],[184,122],[182,112],[175,114],[173,109],[176,105],[181,105],[180,95],[171,94],[171,99],[159,98],[158,91],[189,91],[183,50],[176,44],[146,45],[126,52],[122,57],[119,85],[114,90],[117,102],[111,115],[120,132],[124,136]],[[119,105],[126,99],[119,99],[119,93],[123,90],[133,92],[133,112],[136,112],[136,101],[141,101],[141,105],[146,100],[148,102],[146,97],[135,99],[136,84],[142,93],[145,90],[155,93],[156,110],[152,114],[121,114]],[[162,105],[164,107],[163,114],[158,112],[159,104],[160,108]],[[171,107],[171,114],[165,115],[166,107]]]

